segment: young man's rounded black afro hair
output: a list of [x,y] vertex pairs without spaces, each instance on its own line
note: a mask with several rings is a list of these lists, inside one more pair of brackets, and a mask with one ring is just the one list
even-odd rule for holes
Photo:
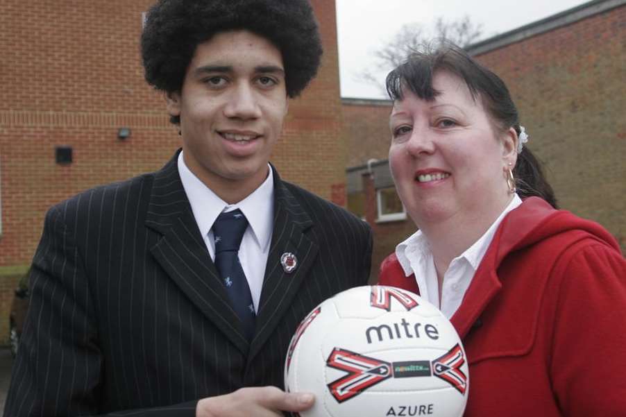
[[[298,96],[317,73],[322,46],[308,0],[159,0],[142,33],[146,81],[157,90],[180,92],[196,46],[236,30],[260,35],[280,50],[289,97]],[[180,118],[171,121],[178,124]]]

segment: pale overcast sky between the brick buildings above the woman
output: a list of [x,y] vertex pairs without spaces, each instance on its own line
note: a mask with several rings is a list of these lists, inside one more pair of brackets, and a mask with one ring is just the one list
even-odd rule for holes
[[[437,17],[455,21],[469,16],[482,24],[480,40],[555,15],[580,0],[336,0],[341,96],[384,99],[380,88],[359,80],[372,68],[373,51],[391,40],[403,24],[430,28]],[[391,69],[391,68],[390,68]],[[384,79],[387,71],[380,73]]]

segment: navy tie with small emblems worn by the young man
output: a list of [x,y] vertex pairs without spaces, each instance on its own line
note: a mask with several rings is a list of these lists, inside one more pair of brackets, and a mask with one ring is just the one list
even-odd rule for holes
[[213,223],[215,239],[215,266],[226,287],[230,303],[242,321],[248,340],[255,330],[255,311],[248,280],[239,262],[239,246],[248,227],[248,219],[241,210],[221,213]]

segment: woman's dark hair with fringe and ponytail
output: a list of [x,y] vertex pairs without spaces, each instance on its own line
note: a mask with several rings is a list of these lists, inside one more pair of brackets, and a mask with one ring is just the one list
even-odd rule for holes
[[[498,129],[505,131],[512,127],[518,135],[521,133],[518,111],[507,85],[450,42],[424,46],[423,50],[411,53],[387,75],[387,93],[392,100],[402,100],[403,89],[408,88],[420,99],[432,101],[439,94],[432,86],[437,71],[448,71],[464,80],[473,98],[482,100]],[[518,155],[513,176],[521,198],[541,197],[557,208],[555,193],[543,176],[541,163],[526,146]]]

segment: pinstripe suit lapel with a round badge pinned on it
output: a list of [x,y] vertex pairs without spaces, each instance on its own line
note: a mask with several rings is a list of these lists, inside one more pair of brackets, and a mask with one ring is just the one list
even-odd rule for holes
[[[258,310],[256,333],[248,355],[248,363],[276,328],[293,302],[298,288],[317,257],[318,245],[303,232],[313,221],[300,203],[285,187],[276,169],[274,172],[274,225],[267,258],[263,289]],[[296,268],[288,273],[280,258],[285,253],[296,256]]]

